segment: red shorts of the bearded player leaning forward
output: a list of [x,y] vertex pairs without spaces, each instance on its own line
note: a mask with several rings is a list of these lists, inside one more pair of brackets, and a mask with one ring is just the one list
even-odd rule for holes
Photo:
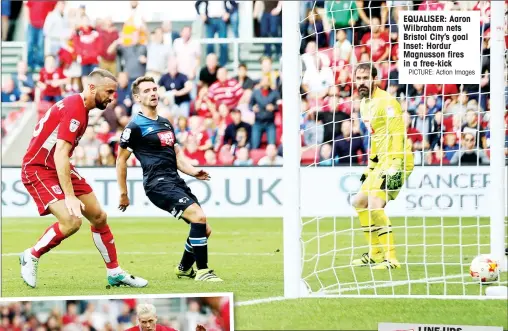
[[[65,199],[56,170],[47,170],[44,168],[25,170],[23,168],[21,178],[28,193],[30,193],[32,199],[34,199],[41,216],[50,214],[48,209],[50,204]],[[71,180],[76,196],[93,192],[86,180],[73,168],[71,168]]]

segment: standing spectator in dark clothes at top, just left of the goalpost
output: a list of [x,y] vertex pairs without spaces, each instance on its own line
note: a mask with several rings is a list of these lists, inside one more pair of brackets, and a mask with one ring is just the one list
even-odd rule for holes
[[[261,37],[282,37],[282,1],[263,1],[264,10],[261,15]],[[282,55],[282,45],[280,43],[265,44],[264,55],[272,57],[272,47],[275,47],[274,58],[280,58]]]

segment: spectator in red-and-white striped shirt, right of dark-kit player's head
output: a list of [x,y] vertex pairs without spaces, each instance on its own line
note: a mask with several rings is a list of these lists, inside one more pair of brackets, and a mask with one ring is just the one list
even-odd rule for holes
[[217,81],[208,89],[208,96],[215,104],[225,104],[228,109],[238,106],[243,96],[240,83],[228,77],[228,70],[221,67],[217,70]]

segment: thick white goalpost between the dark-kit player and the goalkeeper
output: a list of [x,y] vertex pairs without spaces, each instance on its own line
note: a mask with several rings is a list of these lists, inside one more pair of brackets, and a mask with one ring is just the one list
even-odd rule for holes
[[303,296],[302,233],[300,213],[300,2],[284,1],[282,7],[282,144],[284,296]]

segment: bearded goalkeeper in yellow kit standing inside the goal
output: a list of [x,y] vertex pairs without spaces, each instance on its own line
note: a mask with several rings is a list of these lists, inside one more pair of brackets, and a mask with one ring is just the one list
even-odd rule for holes
[[356,67],[355,84],[361,97],[361,118],[370,131],[370,152],[368,168],[360,179],[362,186],[352,204],[358,212],[369,252],[352,263],[395,269],[400,264],[384,208],[397,197],[413,171],[414,161],[402,108],[392,95],[375,85],[376,79],[377,70],[371,64]]

